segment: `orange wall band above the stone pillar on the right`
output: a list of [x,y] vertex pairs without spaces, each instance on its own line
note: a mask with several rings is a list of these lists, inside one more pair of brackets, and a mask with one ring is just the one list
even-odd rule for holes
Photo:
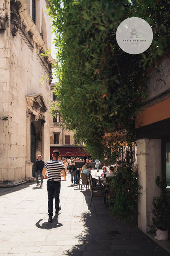
[[146,126],[167,118],[170,118],[170,98],[138,114],[135,120],[135,128],[139,128],[139,125]]

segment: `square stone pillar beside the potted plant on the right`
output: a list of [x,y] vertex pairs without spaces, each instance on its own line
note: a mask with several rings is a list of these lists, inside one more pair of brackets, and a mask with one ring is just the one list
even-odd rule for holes
[[146,233],[152,224],[153,197],[160,196],[155,180],[161,177],[161,139],[139,139],[136,144],[138,184],[143,187],[138,203],[138,228]]

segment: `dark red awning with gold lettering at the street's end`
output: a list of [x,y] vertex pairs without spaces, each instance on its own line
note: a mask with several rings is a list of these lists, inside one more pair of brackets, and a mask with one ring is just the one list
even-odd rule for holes
[[90,156],[84,148],[82,147],[50,147],[50,156],[55,149],[58,149],[60,152],[60,156],[69,156],[69,157],[82,157],[82,156]]

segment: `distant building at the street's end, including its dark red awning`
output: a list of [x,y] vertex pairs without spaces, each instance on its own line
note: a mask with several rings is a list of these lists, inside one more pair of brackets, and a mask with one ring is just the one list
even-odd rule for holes
[[82,142],[77,143],[74,133],[65,129],[60,111],[57,108],[57,96],[54,93],[55,83],[51,83],[51,101],[56,103],[55,117],[50,120],[50,157],[55,149],[60,151],[61,158],[88,158],[90,155],[84,151]]

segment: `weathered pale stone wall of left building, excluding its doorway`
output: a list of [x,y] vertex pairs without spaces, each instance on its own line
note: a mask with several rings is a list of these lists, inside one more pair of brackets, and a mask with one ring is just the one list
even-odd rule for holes
[[[4,2],[7,15],[11,18],[11,6],[9,2]],[[0,181],[4,182],[26,178],[26,96],[42,94],[45,105],[48,107],[50,104],[50,80],[45,78],[42,84],[40,80],[42,75],[50,76],[52,58],[51,55],[45,58],[40,56],[41,52],[47,50],[47,46],[29,16],[26,2],[20,2],[22,7],[15,6],[18,11],[16,35],[12,33],[10,19],[6,21],[6,29],[0,30],[0,117],[1,120],[4,116],[8,117],[8,120],[0,121]],[[45,1],[42,4],[45,5]],[[50,22],[46,25],[50,31]],[[42,145],[44,149],[41,149],[45,160],[49,160],[50,155],[49,120],[47,110]]]

